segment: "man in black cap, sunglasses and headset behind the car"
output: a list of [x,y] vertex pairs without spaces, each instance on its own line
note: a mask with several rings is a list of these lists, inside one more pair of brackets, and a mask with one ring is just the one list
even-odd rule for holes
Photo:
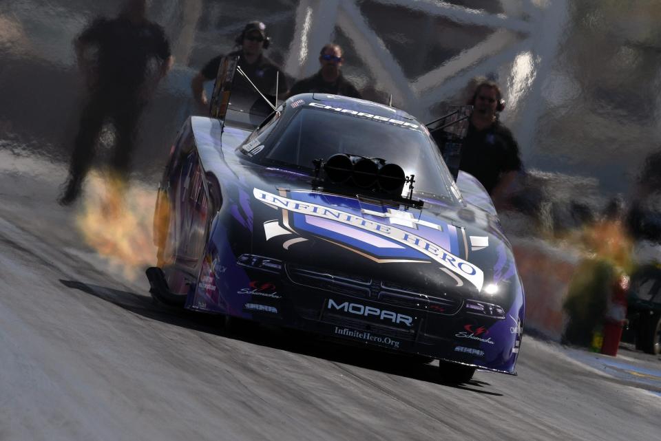
[[[255,86],[260,89],[260,92],[268,97],[275,96],[275,83],[276,77],[278,77],[278,95],[286,94],[286,78],[280,69],[262,53],[271,43],[271,39],[266,35],[266,25],[261,21],[251,21],[236,37],[235,43],[241,48],[230,52],[228,56],[239,56],[238,65]],[[209,104],[207,96],[204,94],[204,82],[216,80],[222,57],[222,55],[219,55],[212,58],[193,78],[191,83],[193,96],[201,105],[207,106]],[[233,96],[236,96],[236,94],[252,96],[254,94],[253,90],[253,87],[243,76],[238,73],[235,74]]]

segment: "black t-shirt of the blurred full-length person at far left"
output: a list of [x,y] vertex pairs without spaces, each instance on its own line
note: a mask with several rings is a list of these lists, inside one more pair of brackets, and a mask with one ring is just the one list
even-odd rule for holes
[[105,92],[136,92],[147,78],[149,61],[156,59],[156,69],[160,69],[160,63],[170,56],[170,45],[160,25],[147,20],[132,23],[123,15],[94,20],[78,41],[98,47],[98,87]]

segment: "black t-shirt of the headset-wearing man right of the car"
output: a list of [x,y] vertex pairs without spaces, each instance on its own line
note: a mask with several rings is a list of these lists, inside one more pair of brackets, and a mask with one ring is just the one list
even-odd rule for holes
[[469,125],[461,148],[459,169],[477,178],[489,193],[498,184],[502,173],[521,170],[518,144],[510,129],[499,121],[484,130]]

